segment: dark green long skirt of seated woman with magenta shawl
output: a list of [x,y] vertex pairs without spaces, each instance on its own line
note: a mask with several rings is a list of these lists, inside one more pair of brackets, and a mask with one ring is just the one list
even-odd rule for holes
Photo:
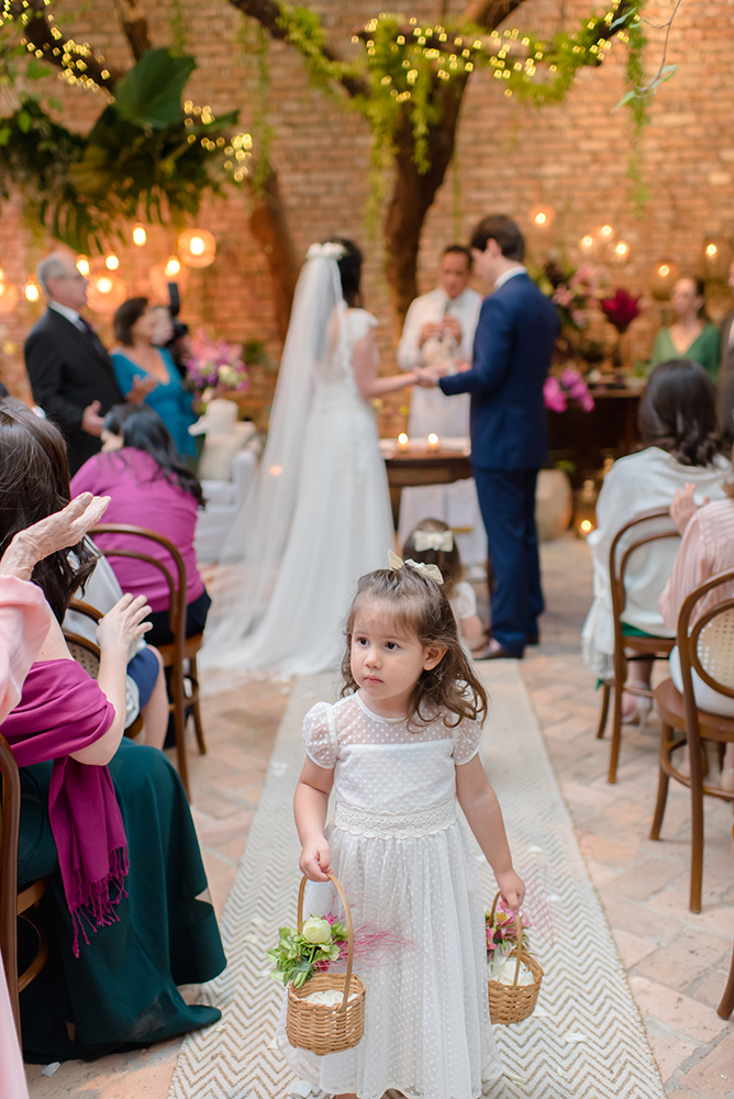
[[21,768],[19,886],[49,877],[52,887],[44,899],[49,961],[21,995],[23,1053],[32,1064],[91,1059],[220,1019],[215,1008],[185,1003],[177,988],[210,980],[226,965],[214,911],[200,898],[207,875],[178,774],[163,752],[124,737],[109,769],[127,836],[127,897],[115,908],[119,920],[89,932],[75,958],[48,820],[52,764]]

